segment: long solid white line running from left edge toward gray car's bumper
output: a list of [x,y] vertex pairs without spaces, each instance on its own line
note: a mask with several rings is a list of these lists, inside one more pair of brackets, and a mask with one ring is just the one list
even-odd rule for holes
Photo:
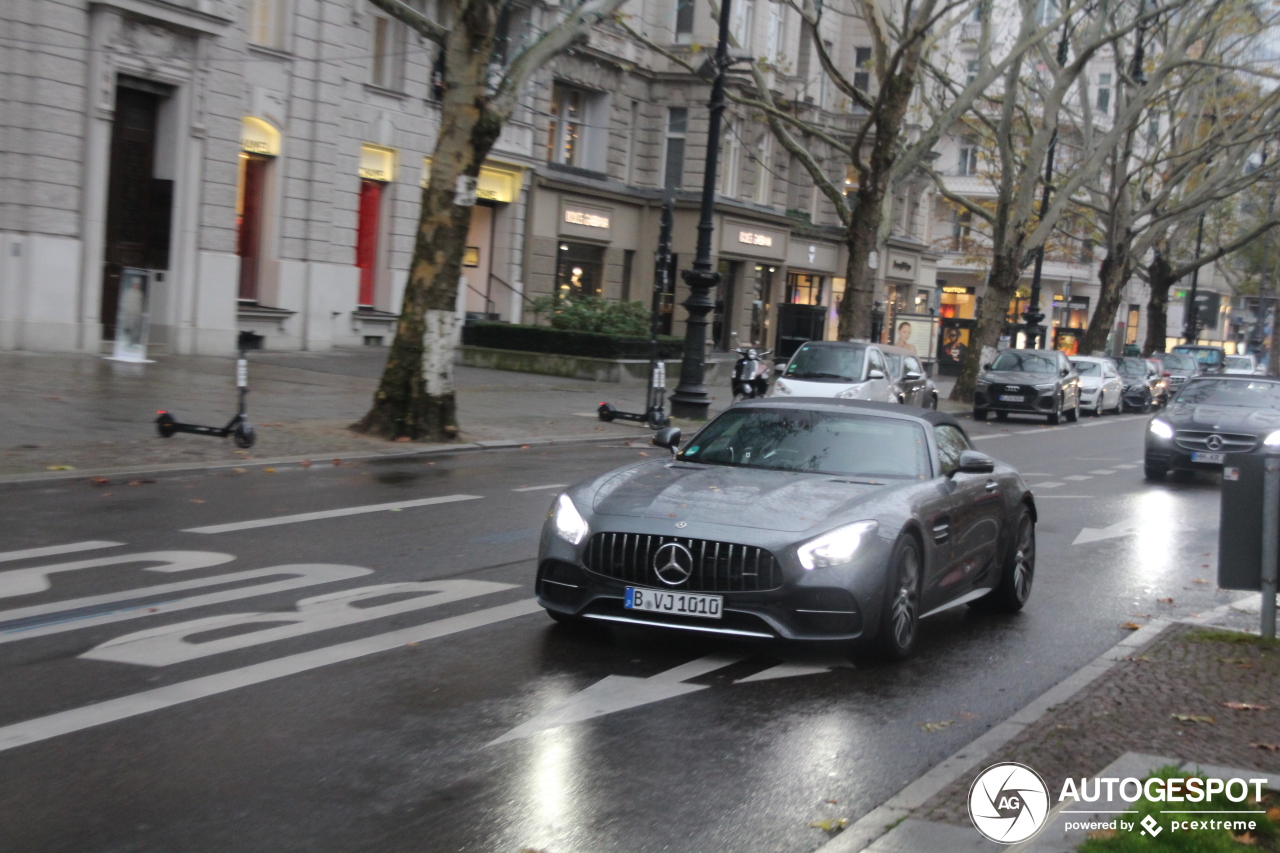
[[317,648],[312,652],[279,657],[274,661],[265,661],[262,663],[244,666],[238,670],[218,672],[216,675],[206,675],[204,678],[179,681],[178,684],[170,684],[154,690],[143,690],[142,693],[124,695],[118,699],[108,699],[96,704],[72,708],[70,711],[50,713],[45,717],[15,722],[13,725],[0,727],[0,752],[29,743],[49,740],[50,738],[56,738],[59,735],[72,734],[73,731],[92,729],[93,726],[100,726],[106,722],[128,720],[129,717],[150,713],[151,711],[172,708],[184,702],[192,702],[193,699],[202,699],[205,697],[218,695],[219,693],[262,684],[264,681],[271,681],[287,675],[306,672],[308,670],[320,669],[321,666],[329,666],[330,663],[340,663],[343,661],[352,661],[369,654],[376,654],[379,652],[387,652],[407,643],[422,643],[430,639],[448,637],[449,634],[471,630],[474,628],[483,628],[485,625],[493,625],[508,619],[516,619],[517,616],[527,616],[529,613],[535,613],[540,610],[541,607],[536,601],[526,598],[509,605],[499,605],[498,607],[489,607],[488,610],[477,610],[472,613],[465,613],[462,616],[451,616],[449,619],[440,619],[425,625],[415,625],[413,628],[403,628],[401,630],[388,631],[387,634],[378,634],[375,637],[366,637],[349,643],[329,646],[328,648]]

